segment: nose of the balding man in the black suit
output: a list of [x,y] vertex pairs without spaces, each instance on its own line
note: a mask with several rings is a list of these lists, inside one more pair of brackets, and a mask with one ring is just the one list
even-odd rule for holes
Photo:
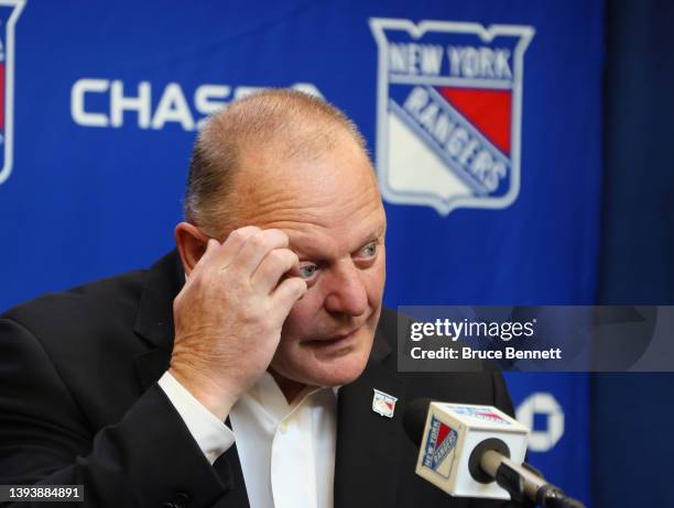
[[368,310],[368,294],[361,270],[352,259],[345,259],[331,267],[325,284],[325,308],[333,313],[361,316]]

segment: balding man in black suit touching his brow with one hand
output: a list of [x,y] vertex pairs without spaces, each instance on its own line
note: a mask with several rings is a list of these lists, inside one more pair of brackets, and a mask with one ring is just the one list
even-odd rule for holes
[[407,401],[512,408],[496,374],[396,372],[385,216],[344,114],[281,90],[230,104],[185,218],[150,270],[0,319],[0,484],[83,484],[96,507],[491,506],[414,475]]

